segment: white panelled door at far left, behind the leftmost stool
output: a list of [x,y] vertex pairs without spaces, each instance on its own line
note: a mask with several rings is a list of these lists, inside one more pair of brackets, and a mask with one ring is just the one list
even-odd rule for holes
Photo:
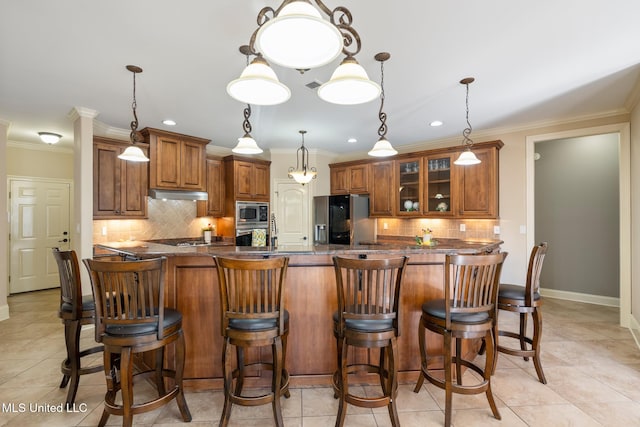
[[51,249],[68,250],[70,184],[10,180],[10,293],[60,286]]

